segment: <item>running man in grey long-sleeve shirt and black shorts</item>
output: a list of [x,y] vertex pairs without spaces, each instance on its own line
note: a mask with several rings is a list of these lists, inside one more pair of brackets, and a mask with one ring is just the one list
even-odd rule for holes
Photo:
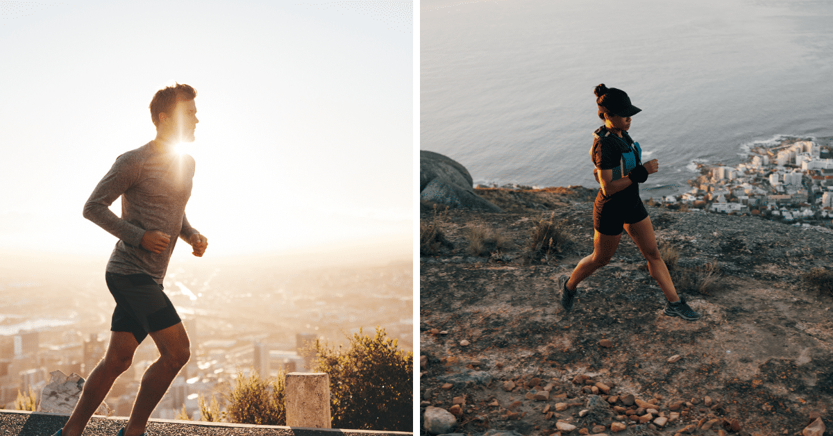
[[[162,278],[177,237],[202,257],[208,239],[191,227],[185,205],[191,197],[194,159],[176,153],[177,143],[193,142],[197,91],[177,83],[157,91],[151,119],[157,136],[116,158],[84,204],[84,218],[118,238],[107,263],[107,288],[116,299],[107,353],[89,374],[75,409],[56,436],[80,436],[133,353],[150,335],[160,357],[147,368],[127,427],[117,436],[144,435],[147,419],[173,378],[185,366],[190,343],[182,320],[162,292]],[[110,205],[122,197],[122,218]]]

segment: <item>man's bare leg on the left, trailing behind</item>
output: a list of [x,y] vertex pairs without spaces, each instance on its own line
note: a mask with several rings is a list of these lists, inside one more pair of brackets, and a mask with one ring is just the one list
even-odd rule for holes
[[84,382],[84,388],[81,392],[81,398],[78,398],[78,403],[72,409],[72,414],[69,416],[67,423],[63,424],[62,436],[80,436],[87,427],[87,423],[92,418],[92,413],[95,413],[98,406],[101,405],[107,393],[112,388],[112,383],[116,381],[119,375],[130,368],[130,363],[133,361],[133,353],[139,343],[133,333],[130,332],[111,332],[110,344],[107,345],[107,353],[102,358],[101,362],[92,369],[87,381]]

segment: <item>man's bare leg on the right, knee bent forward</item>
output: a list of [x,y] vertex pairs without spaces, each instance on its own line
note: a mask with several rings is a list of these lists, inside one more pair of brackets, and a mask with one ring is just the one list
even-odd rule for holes
[[124,431],[125,436],[139,436],[144,433],[153,408],[156,408],[167,388],[171,386],[173,378],[177,377],[179,370],[185,366],[188,358],[191,358],[191,343],[182,323],[149,334],[157,344],[160,356],[142,376],[142,385],[139,387],[136,403],[133,403],[133,410]]

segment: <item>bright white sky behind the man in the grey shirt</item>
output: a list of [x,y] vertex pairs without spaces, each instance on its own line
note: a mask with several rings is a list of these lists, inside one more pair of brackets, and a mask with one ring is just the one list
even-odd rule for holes
[[410,1],[0,1],[0,248],[110,253],[83,204],[176,81],[207,254],[412,253],[412,32]]

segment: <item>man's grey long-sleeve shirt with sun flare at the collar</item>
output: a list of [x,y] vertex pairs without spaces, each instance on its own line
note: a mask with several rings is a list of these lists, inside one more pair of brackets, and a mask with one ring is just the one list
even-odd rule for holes
[[[84,204],[84,218],[112,233],[118,241],[107,271],[119,274],[146,273],[162,283],[177,236],[188,240],[199,233],[185,216],[191,197],[194,158],[187,154],[159,153],[147,143],[116,158]],[[122,218],[110,210],[122,197]],[[142,248],[148,230],[171,235],[162,253]]]

